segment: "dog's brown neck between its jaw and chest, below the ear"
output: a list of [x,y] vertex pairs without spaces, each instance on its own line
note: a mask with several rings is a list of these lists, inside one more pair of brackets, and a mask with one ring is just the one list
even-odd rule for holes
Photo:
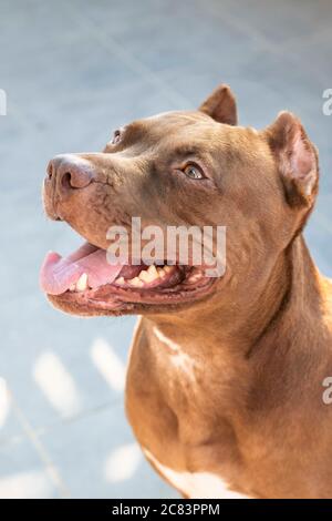
[[246,287],[241,292],[237,302],[225,300],[220,290],[208,304],[178,314],[151,316],[146,321],[186,350],[199,346],[208,354],[224,346],[237,356],[241,353],[250,357],[272,331],[290,335],[290,324],[301,327],[305,308],[315,319],[320,276],[303,237],[299,235],[271,270],[257,277],[249,292]]

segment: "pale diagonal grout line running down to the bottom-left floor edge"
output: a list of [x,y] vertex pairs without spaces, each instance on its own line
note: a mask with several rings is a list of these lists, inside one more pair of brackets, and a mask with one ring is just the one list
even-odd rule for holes
[[59,470],[56,469],[55,464],[52,461],[51,456],[49,454],[48,450],[43,446],[43,443],[39,440],[37,433],[34,432],[32,426],[30,425],[28,418],[25,417],[24,412],[18,405],[13,394],[11,391],[10,397],[13,406],[13,410],[17,415],[18,421],[25,433],[27,438],[30,440],[30,442],[33,445],[37,453],[39,454],[42,463],[45,466],[45,470],[51,479],[51,481],[55,484],[56,489],[60,491],[62,497],[69,498],[70,490],[64,483],[63,479],[60,476]]

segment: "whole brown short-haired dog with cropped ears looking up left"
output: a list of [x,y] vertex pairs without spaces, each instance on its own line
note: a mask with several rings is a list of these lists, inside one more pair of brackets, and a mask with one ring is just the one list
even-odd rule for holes
[[[237,126],[225,85],[197,112],[135,121],[103,153],[49,165],[48,215],[89,244],[66,259],[49,254],[42,287],[68,313],[144,316],[127,413],[185,497],[332,494],[332,284],[302,237],[318,184],[300,121],[284,112],[261,132]],[[107,229],[131,231],[132,216],[162,229],[226,226],[225,275],[107,265]]]

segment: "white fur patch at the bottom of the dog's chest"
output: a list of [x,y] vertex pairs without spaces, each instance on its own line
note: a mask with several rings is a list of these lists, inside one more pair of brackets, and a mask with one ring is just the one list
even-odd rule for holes
[[190,499],[249,499],[228,490],[227,483],[219,476],[210,472],[178,472],[162,464],[148,450],[143,450],[160,474]]

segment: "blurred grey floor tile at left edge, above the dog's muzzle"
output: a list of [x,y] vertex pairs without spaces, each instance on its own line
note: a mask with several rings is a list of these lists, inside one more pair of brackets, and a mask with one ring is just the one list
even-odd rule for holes
[[[122,63],[112,49],[103,49],[84,34],[74,42],[44,48],[37,55],[31,55],[29,50],[25,52],[20,69],[9,67],[8,71],[2,71],[2,88],[7,90],[9,104],[13,100],[40,132],[52,125],[54,118],[62,118],[65,125],[66,112],[72,108],[75,112],[80,103],[81,114],[91,109],[96,92],[105,95],[139,80],[139,74]],[[74,133],[77,129],[71,130]]]

